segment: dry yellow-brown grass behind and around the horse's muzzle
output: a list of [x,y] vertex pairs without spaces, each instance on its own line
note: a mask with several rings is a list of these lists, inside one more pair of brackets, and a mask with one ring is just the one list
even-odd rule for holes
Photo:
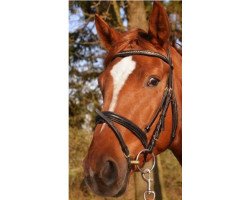
[[[131,178],[127,192],[120,198],[103,198],[94,195],[82,182],[84,171],[82,160],[87,153],[92,135],[84,130],[69,130],[69,199],[70,200],[134,200],[134,179]],[[170,151],[160,155],[162,165],[164,200],[180,200],[182,187],[181,167]]]

